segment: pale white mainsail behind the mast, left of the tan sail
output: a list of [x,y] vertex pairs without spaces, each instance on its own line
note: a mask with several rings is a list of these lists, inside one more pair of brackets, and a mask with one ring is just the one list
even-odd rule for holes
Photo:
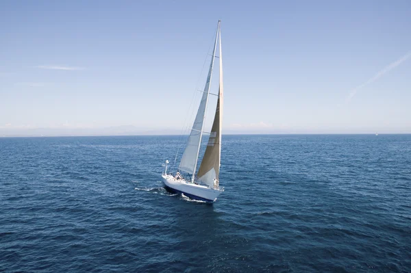
[[212,77],[212,68],[214,67],[214,55],[216,53],[218,34],[219,28],[217,28],[216,32],[216,40],[214,42],[214,49],[212,51],[212,59],[210,63],[210,69],[208,70],[206,86],[204,86],[204,92],[203,96],[201,97],[197,116],[195,117],[190,136],[188,137],[186,149],[184,150],[182,160],[179,164],[179,170],[183,170],[184,172],[188,172],[189,174],[194,174],[195,169],[197,168],[197,159],[199,157],[201,136],[203,135],[204,116],[206,114],[208,94],[210,92],[210,81]]

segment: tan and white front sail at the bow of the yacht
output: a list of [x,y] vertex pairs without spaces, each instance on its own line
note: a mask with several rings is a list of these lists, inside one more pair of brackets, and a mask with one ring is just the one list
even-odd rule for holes
[[[220,24],[219,24],[220,28]],[[220,161],[221,161],[221,128],[223,125],[223,55],[221,54],[221,31],[219,31],[219,59],[220,59],[220,87],[219,87],[219,99],[216,105],[216,114],[214,116],[214,122],[212,123],[212,129],[210,137],[208,138],[208,144],[206,153],[204,153],[203,160],[197,173],[198,181],[214,187],[214,179],[216,179],[216,187],[219,183]]]

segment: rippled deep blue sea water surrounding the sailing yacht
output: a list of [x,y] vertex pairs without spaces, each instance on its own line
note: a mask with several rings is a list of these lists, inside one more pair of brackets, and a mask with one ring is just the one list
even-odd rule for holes
[[0,271],[411,272],[411,135],[223,135],[213,205],[178,140],[0,138]]

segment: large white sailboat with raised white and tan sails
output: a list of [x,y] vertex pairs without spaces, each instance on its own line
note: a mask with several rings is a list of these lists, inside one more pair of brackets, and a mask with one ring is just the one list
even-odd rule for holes
[[[212,51],[210,68],[208,70],[208,77],[206,85],[201,96],[201,102],[195,117],[194,124],[182,159],[179,162],[179,166],[176,174],[167,173],[167,167],[169,161],[166,160],[166,169],[162,174],[162,179],[166,190],[170,192],[177,192],[188,196],[195,200],[203,200],[206,202],[214,202],[216,198],[224,192],[224,188],[219,185],[219,172],[221,161],[221,127],[223,125],[223,57],[221,54],[221,21],[217,25],[216,38],[214,41],[214,48]],[[216,111],[214,114],[214,121],[212,123],[212,129],[208,133],[208,144],[206,152],[203,155],[199,170],[197,171],[197,164],[200,153],[201,139],[204,131],[204,120],[206,118],[206,109],[208,105],[208,99],[210,96],[210,83],[212,79],[212,70],[214,68],[214,60],[216,56],[217,44],[219,44],[219,94]],[[180,172],[186,172],[188,178],[185,178]]]

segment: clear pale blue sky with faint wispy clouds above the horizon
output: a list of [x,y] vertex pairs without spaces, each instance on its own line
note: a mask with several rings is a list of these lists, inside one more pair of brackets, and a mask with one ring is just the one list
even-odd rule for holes
[[0,135],[181,132],[219,19],[223,133],[411,133],[410,14],[407,0],[0,1]]

